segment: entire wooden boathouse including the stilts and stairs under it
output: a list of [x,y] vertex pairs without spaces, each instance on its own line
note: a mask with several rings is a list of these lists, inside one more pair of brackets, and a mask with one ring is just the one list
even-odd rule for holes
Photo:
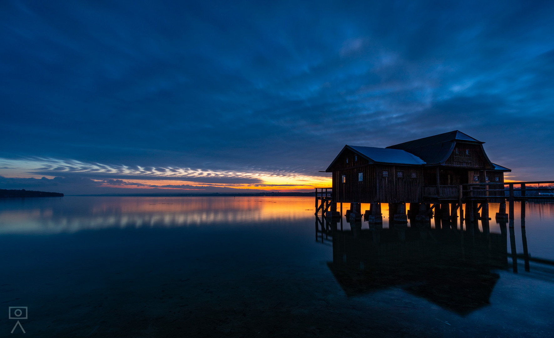
[[472,201],[469,218],[483,207],[488,217],[488,202],[505,199],[504,172],[511,170],[491,162],[484,143],[454,130],[386,148],[345,145],[325,170],[332,188],[316,188],[316,214],[338,216],[337,203],[341,213],[350,203],[347,218],[360,219],[361,203],[371,203],[366,219],[381,222],[381,203],[388,203],[393,221],[407,222],[409,214],[428,221],[433,209],[450,218]]

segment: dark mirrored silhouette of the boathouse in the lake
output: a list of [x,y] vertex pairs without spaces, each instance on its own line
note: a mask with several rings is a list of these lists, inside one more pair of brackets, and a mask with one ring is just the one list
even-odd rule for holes
[[362,229],[361,222],[341,231],[337,221],[321,221],[322,230],[332,232],[333,261],[327,265],[347,296],[397,286],[466,315],[489,304],[499,279],[494,270],[509,268],[506,231],[394,223]]

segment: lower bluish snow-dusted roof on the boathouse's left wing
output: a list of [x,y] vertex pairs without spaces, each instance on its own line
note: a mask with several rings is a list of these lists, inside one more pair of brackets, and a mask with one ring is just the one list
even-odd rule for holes
[[335,160],[333,160],[327,170],[325,170],[326,172],[331,171],[331,167],[346,149],[350,149],[358,155],[366,158],[366,160],[370,161],[370,163],[387,163],[411,166],[420,166],[425,164],[425,161],[421,158],[404,150],[346,145],[342,148],[341,152],[338,153],[337,157],[335,157]]

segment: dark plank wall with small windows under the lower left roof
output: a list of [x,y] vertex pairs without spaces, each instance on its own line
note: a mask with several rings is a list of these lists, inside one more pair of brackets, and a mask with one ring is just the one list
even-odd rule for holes
[[[402,177],[398,177],[398,172],[402,172]],[[412,178],[412,172],[416,177]],[[359,173],[362,181],[358,181]],[[423,168],[381,164],[346,167],[333,172],[333,190],[337,202],[342,203],[416,203],[422,200]]]

